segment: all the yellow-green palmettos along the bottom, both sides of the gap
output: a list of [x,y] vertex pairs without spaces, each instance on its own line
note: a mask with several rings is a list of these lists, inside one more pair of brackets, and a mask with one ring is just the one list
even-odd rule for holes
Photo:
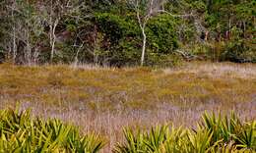
[[[207,153],[256,151],[256,122],[204,113],[198,128],[162,126],[141,131],[125,128],[126,142],[114,153]],[[0,152],[99,152],[103,141],[95,134],[81,136],[77,128],[58,120],[32,119],[30,111],[0,111]]]

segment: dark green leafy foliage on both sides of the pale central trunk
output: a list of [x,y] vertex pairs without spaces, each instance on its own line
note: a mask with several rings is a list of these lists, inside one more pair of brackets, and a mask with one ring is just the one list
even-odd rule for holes
[[[148,35],[148,65],[161,65],[167,55],[173,54],[178,47],[175,32],[175,19],[161,15],[152,19],[146,29]],[[121,17],[111,13],[96,15],[96,26],[102,34],[100,51],[106,53],[109,62],[117,65],[134,65],[140,59],[141,31],[134,14]],[[106,41],[106,42],[105,42]],[[169,60],[171,63],[171,60]],[[171,64],[169,64],[171,65]]]

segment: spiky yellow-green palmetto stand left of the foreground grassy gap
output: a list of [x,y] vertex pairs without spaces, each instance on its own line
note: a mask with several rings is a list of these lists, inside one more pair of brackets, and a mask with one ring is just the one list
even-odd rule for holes
[[30,111],[0,111],[0,152],[96,153],[104,142],[96,134],[81,136],[79,130],[58,120],[31,119]]

